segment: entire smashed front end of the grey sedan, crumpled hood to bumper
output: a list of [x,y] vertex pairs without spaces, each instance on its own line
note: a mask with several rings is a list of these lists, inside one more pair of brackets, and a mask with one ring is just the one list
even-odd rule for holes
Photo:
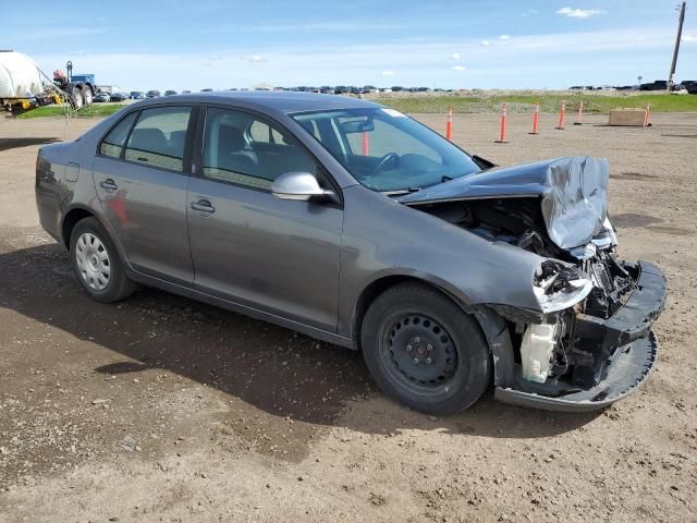
[[486,171],[402,199],[540,257],[529,284],[511,290],[511,303],[530,292],[537,307],[474,307],[501,401],[601,409],[636,389],[657,363],[651,325],[663,308],[665,278],[651,263],[617,259],[608,179],[606,160],[560,158]]

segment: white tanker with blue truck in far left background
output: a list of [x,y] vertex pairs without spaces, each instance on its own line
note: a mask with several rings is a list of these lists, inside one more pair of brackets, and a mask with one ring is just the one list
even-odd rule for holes
[[73,109],[89,106],[97,90],[94,75],[73,77],[73,64],[66,64],[68,75],[53,72],[49,80],[26,54],[0,50],[0,107],[13,114],[51,104],[70,104]]

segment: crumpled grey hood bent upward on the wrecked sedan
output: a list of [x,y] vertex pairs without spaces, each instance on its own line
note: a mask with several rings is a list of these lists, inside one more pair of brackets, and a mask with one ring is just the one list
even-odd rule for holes
[[491,169],[398,198],[409,206],[458,199],[539,196],[549,238],[560,248],[586,245],[603,229],[610,166],[567,157]]

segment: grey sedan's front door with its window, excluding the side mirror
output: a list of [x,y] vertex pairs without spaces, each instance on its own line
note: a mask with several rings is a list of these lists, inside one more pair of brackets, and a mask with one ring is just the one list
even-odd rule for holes
[[271,183],[288,171],[323,177],[288,132],[246,112],[208,109],[203,162],[188,187],[194,285],[335,331],[343,210],[274,197]]

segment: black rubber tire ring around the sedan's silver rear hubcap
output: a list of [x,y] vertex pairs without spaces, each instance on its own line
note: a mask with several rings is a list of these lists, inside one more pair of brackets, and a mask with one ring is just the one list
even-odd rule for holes
[[[101,291],[91,289],[83,279],[82,275],[80,273],[80,268],[77,267],[75,244],[77,243],[77,239],[86,232],[89,232],[97,236],[99,241],[101,241],[102,245],[107,250],[107,254],[109,255],[109,266],[111,267],[109,283]],[[77,224],[73,228],[70,236],[70,259],[71,265],[73,266],[73,272],[75,273],[77,281],[91,299],[98,302],[110,303],[115,302],[122,297],[124,285],[127,281],[123,269],[123,264],[121,263],[119,252],[111,241],[109,233],[97,219],[85,218],[84,220],[78,221]]]

